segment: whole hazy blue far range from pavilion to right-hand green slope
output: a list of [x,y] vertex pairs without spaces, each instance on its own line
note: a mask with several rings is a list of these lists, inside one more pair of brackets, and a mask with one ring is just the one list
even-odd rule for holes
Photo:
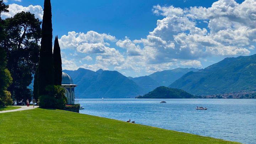
[[[188,71],[197,71],[194,68],[177,68],[158,71],[149,76],[138,78],[126,77],[118,71],[99,69],[96,72],[79,68],[78,70],[63,70],[69,74],[74,83],[75,95],[78,98],[134,98],[143,95],[156,87],[170,85]],[[162,78],[163,77],[163,78]]]

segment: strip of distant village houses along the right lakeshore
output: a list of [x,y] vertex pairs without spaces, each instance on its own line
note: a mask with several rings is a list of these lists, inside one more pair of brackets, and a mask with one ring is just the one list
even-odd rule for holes
[[202,96],[202,98],[256,98],[256,91]]

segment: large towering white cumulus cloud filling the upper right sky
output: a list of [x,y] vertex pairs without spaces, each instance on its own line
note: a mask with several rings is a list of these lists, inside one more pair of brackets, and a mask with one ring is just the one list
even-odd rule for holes
[[[238,4],[219,0],[211,7],[154,6],[153,12],[165,16],[146,39],[137,40],[157,49],[155,60],[198,59],[214,55],[248,55],[256,36],[255,0]],[[207,27],[197,27],[204,21]],[[152,40],[156,37],[158,41]],[[170,49],[166,49],[169,45]]]

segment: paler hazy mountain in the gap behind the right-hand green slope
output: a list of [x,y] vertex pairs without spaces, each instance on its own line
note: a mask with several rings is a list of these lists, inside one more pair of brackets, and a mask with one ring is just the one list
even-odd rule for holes
[[155,80],[158,86],[169,86],[170,84],[172,84],[172,82],[181,78],[181,76],[188,73],[189,71],[198,70],[199,69],[195,68],[177,68],[172,70],[157,71],[149,75],[149,77]]

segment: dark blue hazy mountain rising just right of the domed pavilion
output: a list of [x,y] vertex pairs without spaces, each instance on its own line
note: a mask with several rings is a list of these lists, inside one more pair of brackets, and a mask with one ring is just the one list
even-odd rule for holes
[[79,98],[134,98],[145,90],[118,71],[98,70],[96,72],[79,68],[63,70],[73,79],[75,95]]

